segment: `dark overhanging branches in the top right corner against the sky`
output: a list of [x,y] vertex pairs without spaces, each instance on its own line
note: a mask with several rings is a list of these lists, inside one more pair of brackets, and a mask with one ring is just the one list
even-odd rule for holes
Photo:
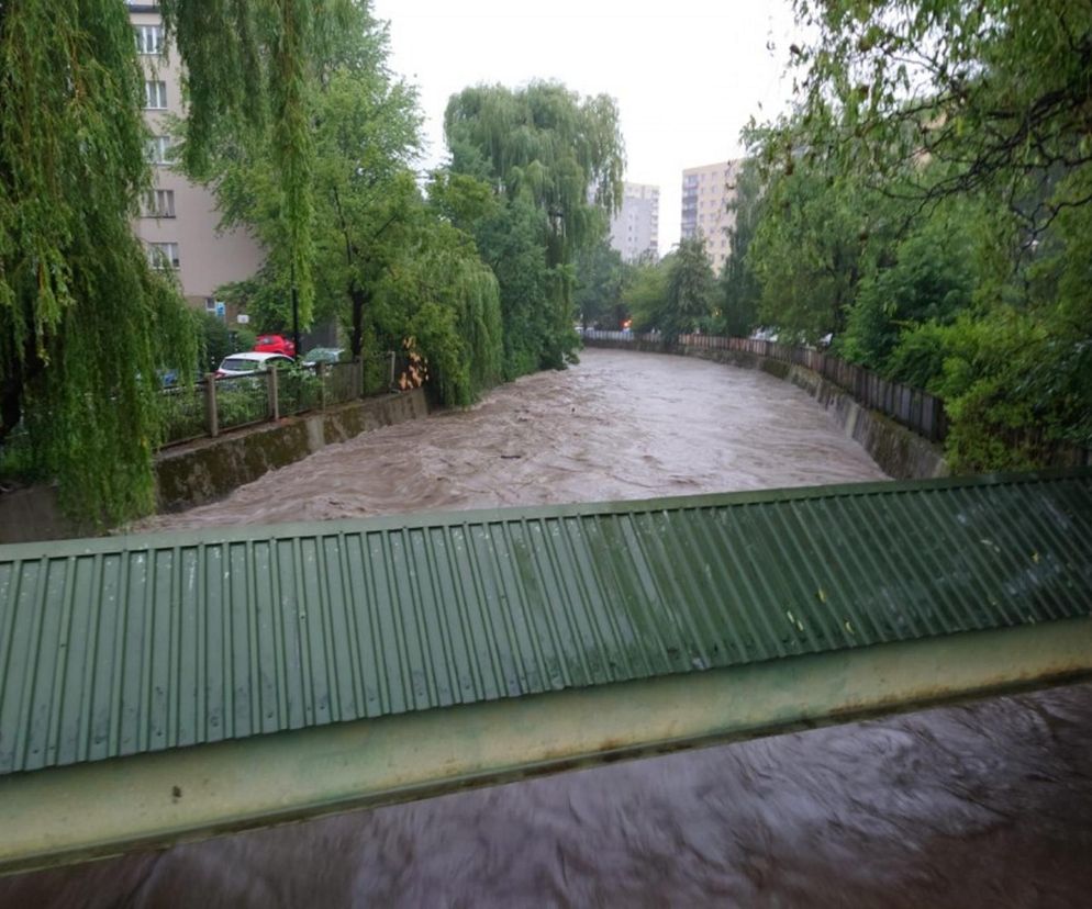
[[[1088,3],[795,0],[795,9],[812,36],[793,47],[802,125],[846,171],[881,191],[916,173],[899,194],[922,202],[989,190],[1033,233],[1092,201]],[[924,161],[937,167],[923,170]]]

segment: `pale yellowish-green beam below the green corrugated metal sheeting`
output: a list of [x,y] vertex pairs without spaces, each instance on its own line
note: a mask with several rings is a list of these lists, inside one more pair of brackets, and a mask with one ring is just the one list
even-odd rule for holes
[[1077,618],[16,773],[0,873],[1088,677]]

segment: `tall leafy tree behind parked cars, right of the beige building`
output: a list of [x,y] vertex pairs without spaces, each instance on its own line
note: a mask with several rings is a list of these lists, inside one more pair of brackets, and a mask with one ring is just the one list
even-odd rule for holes
[[[301,301],[303,326],[339,317],[359,356],[365,310],[398,249],[398,228],[420,206],[411,164],[420,147],[414,91],[386,68],[386,30],[366,4],[350,8],[349,27],[325,46],[308,96],[308,135],[314,154],[311,237],[314,306]],[[208,164],[227,225],[245,224],[269,256],[259,274],[225,289],[266,330],[291,324],[291,288],[299,249],[275,191],[280,179],[278,127],[222,137]]]

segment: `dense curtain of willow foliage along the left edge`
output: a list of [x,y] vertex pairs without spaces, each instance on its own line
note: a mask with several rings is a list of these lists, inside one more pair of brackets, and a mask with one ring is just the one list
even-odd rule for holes
[[156,370],[193,330],[130,217],[147,182],[124,5],[0,4],[0,441],[20,424],[62,502],[151,508]]

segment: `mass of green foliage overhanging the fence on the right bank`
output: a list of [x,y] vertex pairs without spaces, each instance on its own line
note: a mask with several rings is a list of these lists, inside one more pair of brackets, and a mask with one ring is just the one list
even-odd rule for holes
[[798,104],[749,134],[762,321],[940,394],[957,470],[1092,444],[1092,7],[794,5]]

